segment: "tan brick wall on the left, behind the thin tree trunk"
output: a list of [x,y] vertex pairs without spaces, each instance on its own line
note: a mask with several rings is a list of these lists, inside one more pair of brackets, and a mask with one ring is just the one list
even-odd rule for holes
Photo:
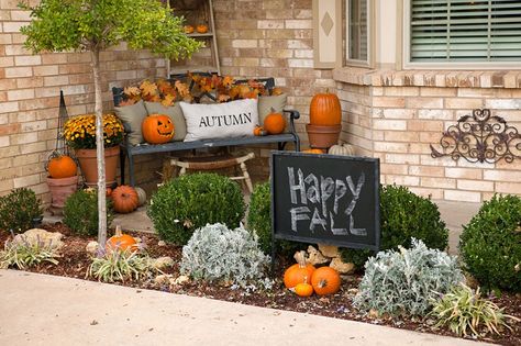
[[[29,187],[48,202],[44,163],[56,145],[59,90],[69,115],[93,111],[90,56],[25,51],[19,30],[29,12],[20,11],[18,2],[0,0],[0,196]],[[111,109],[109,87],[166,75],[164,59],[129,52],[125,45],[103,52],[101,62],[104,110]],[[153,175],[157,163],[147,163]]]

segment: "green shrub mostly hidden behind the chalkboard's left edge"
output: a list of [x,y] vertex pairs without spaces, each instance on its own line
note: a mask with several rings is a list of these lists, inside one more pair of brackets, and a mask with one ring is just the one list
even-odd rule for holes
[[[269,182],[255,186],[247,214],[247,228],[258,236],[258,245],[266,255],[271,255],[271,191]],[[295,252],[307,248],[307,244],[276,241],[277,253],[292,256]]]

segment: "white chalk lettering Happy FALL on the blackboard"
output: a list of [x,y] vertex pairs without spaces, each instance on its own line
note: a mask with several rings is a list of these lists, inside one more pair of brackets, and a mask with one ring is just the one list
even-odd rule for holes
[[[353,234],[366,236],[366,228],[356,228],[353,211],[364,188],[365,175],[358,179],[346,176],[343,179],[304,177],[299,168],[288,167],[291,204],[291,231],[297,232],[299,223],[309,224],[309,230],[331,231],[334,235]],[[342,205],[342,207],[341,207]]]

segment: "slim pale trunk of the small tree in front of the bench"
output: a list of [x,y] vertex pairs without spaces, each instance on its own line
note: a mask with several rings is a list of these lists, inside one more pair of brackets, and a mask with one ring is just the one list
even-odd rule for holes
[[99,48],[92,48],[91,57],[95,79],[96,155],[98,158],[98,244],[101,248],[104,248],[107,243],[107,186],[104,180],[103,105],[101,100]]

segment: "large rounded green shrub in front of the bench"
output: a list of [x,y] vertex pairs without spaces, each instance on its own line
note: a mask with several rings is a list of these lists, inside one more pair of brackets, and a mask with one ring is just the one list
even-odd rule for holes
[[185,245],[193,231],[208,223],[239,226],[244,209],[236,182],[217,174],[193,174],[162,186],[146,212],[162,239]]

